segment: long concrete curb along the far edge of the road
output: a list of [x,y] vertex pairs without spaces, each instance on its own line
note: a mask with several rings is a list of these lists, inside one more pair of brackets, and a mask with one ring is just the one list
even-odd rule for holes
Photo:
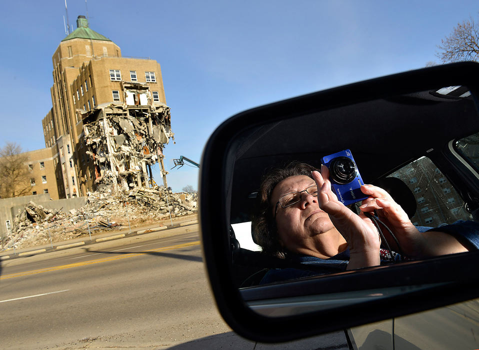
[[[192,224],[196,224],[196,223],[198,223],[197,219],[196,220],[191,220],[191,221],[186,221],[186,222],[174,223],[174,224],[168,225],[168,226],[158,226],[158,227],[153,227],[153,228],[148,228],[148,229],[141,229],[141,230],[138,230],[138,231],[131,231],[131,233],[113,234],[113,235],[106,236],[106,237],[96,238],[94,241],[83,240],[83,241],[79,241],[79,242],[75,242],[75,243],[60,244],[60,245],[53,246],[51,248],[42,248],[42,249],[23,251],[23,252],[20,252],[18,254],[0,256],[0,261],[7,260],[7,259],[12,259],[12,258],[17,258],[17,257],[21,257],[21,256],[31,256],[31,255],[35,255],[35,254],[44,253],[44,252],[47,252],[47,251],[58,251],[58,250],[62,250],[62,249],[74,248],[74,247],[84,245],[84,244],[91,244],[91,243],[96,243],[96,242],[104,242],[104,241],[107,241],[107,240],[120,239],[120,238],[124,238],[124,237],[131,237],[131,236],[137,235],[137,234],[157,232],[157,231],[160,231],[160,230],[163,230],[163,229],[178,228],[178,227],[188,226],[188,225],[192,225]],[[7,249],[7,250],[9,250],[11,252],[12,249]],[[7,250],[4,250],[4,251],[7,251]]]

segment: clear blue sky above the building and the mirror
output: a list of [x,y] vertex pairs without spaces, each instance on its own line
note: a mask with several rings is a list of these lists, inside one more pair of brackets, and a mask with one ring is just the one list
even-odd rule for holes
[[[67,0],[70,24],[86,15]],[[197,162],[216,126],[244,109],[437,61],[440,40],[477,0],[88,0],[90,28],[125,56],[161,64],[175,132],[165,165]],[[0,142],[44,147],[41,119],[51,108],[51,56],[61,39],[64,1],[2,4]],[[156,167],[157,168],[157,167]],[[153,173],[160,182],[158,172]],[[168,185],[197,188],[198,169],[169,170]]]

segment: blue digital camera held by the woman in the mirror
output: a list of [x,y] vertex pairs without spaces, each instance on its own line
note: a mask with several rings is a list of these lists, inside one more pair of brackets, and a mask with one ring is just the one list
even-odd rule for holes
[[349,149],[322,157],[322,163],[328,167],[332,189],[344,205],[367,198],[361,192],[364,182]]

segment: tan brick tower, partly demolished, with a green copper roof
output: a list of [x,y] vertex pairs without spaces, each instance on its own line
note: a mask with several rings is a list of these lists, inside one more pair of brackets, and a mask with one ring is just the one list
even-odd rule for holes
[[163,147],[173,133],[160,64],[122,56],[85,16],[76,25],[52,55],[52,108],[42,119],[52,156],[38,167],[51,171],[39,173],[36,183],[53,199],[86,196],[110,183],[151,186],[150,168],[158,162],[167,186]]

